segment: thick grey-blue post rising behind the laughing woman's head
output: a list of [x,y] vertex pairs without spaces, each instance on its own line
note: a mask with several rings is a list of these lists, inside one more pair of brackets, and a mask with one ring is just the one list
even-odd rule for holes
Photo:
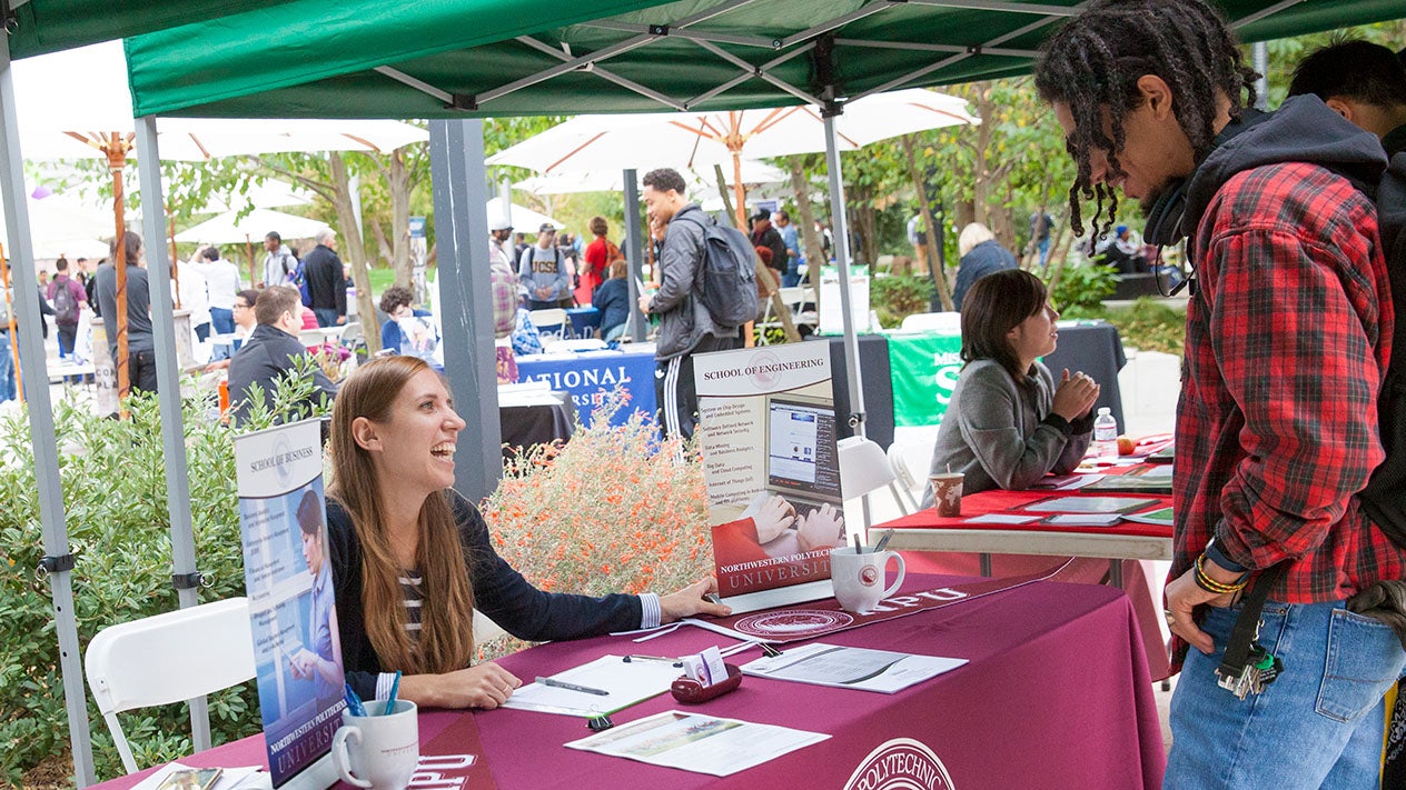
[[503,475],[482,121],[430,121],[430,179],[444,375],[458,394],[456,409],[467,423],[458,440],[464,453],[454,468],[454,488],[479,502]]

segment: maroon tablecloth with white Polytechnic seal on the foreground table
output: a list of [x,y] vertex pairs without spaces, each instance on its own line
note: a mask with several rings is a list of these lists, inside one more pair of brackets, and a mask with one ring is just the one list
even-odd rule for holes
[[[905,590],[939,576],[910,575]],[[948,581],[950,583],[950,579]],[[970,661],[897,694],[747,678],[742,687],[699,706],[702,713],[832,735],[727,779],[567,749],[588,734],[576,718],[517,710],[475,713],[498,786],[589,787],[869,787],[884,772],[929,772],[929,751],[962,790],[1011,787],[1160,787],[1161,730],[1137,626],[1128,597],[1094,585],[1039,582],[1007,593],[834,634],[830,642]],[[624,637],[541,645],[501,663],[519,678],[551,675],[603,654],[679,655],[728,640],[681,628],[643,645]],[[755,652],[731,659],[744,663]],[[613,715],[633,721],[679,706],[668,694]],[[426,713],[423,739],[453,713]],[[897,755],[883,759],[884,755]],[[190,758],[193,765],[262,762],[249,738]],[[851,783],[860,766],[876,766]],[[868,782],[868,783],[866,783]],[[121,790],[124,777],[105,783]],[[917,786],[917,784],[914,784]],[[946,787],[941,779],[931,787]]]

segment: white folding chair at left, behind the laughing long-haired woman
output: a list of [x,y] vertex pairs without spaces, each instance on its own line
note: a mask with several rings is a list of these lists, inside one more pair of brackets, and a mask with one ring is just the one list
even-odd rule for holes
[[122,768],[138,770],[117,714],[202,697],[254,676],[249,599],[231,597],[108,626],[89,642],[86,672]]

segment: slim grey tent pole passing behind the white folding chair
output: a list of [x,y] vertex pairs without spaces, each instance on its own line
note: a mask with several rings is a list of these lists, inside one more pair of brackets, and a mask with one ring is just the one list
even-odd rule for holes
[[[166,201],[162,195],[162,157],[156,145],[156,118],[136,119],[136,160],[142,184],[142,238],[146,246],[152,305],[152,340],[156,346],[156,401],[162,413],[162,451],[166,457],[166,512],[172,524],[172,583],[181,609],[200,603],[195,569],[195,526],[190,512],[190,468],[186,425],[181,416],[180,367],[176,360],[176,319],[172,313],[172,261],[165,236]],[[209,704],[204,696],[187,700],[195,751],[209,748]]]

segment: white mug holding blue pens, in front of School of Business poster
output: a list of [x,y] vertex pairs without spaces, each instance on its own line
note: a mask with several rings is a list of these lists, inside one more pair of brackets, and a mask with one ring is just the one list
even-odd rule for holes
[[415,703],[395,700],[385,715],[385,701],[366,703],[367,715],[342,711],[342,727],[332,738],[332,762],[342,780],[357,787],[405,790],[420,762],[420,724]]

